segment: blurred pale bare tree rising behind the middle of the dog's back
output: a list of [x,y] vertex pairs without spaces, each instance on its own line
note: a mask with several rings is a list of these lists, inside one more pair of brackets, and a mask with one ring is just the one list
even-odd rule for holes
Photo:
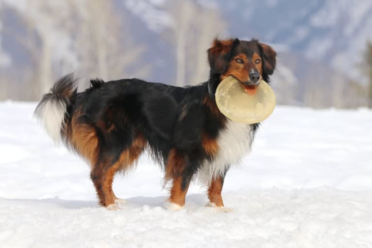
[[78,20],[73,31],[74,50],[84,75],[107,81],[149,74],[150,65],[139,59],[145,47],[135,43],[127,22],[115,12],[111,1],[70,1]]

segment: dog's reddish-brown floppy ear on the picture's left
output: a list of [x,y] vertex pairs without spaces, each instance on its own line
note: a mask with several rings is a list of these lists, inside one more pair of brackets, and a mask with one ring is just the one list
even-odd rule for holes
[[237,38],[213,40],[212,47],[208,49],[208,62],[212,73],[221,74],[226,70],[231,52],[239,42]]

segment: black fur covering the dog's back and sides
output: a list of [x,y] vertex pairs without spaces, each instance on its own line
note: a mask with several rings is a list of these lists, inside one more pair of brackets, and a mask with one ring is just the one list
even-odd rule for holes
[[[107,129],[114,124],[110,132],[97,127],[99,147],[112,158],[112,164],[132,144],[135,133],[141,132],[153,159],[164,165],[169,149],[188,154],[201,150],[203,132],[217,137],[222,124],[203,105],[207,92],[207,83],[187,88],[139,79],[94,83],[70,99],[74,108],[68,109],[68,116],[81,109],[82,124],[96,126],[103,120]],[[181,117],[183,110],[186,115]]]

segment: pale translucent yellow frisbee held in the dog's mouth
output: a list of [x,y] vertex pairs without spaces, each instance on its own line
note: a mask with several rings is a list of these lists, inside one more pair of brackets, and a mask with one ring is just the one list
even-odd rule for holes
[[221,113],[233,121],[254,124],[274,111],[276,98],[270,85],[261,80],[258,86],[245,86],[233,76],[221,81],[216,90]]

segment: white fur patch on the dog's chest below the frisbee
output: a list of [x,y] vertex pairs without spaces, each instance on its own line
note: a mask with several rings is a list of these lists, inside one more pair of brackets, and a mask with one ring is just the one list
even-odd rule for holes
[[254,131],[249,124],[228,120],[225,130],[218,138],[218,154],[211,161],[204,161],[198,173],[198,181],[203,184],[224,175],[230,165],[240,160],[250,152],[254,139]]

